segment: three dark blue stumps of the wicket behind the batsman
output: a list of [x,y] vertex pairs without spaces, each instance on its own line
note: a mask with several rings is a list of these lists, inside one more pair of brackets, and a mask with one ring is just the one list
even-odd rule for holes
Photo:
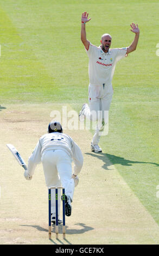
[[62,233],[63,239],[65,239],[65,188],[64,187],[49,187],[48,189],[48,202],[49,202],[49,239],[52,239],[52,220],[51,220],[51,190],[55,190],[55,233],[56,239],[58,239],[59,234],[59,223],[58,223],[58,188],[62,189]]

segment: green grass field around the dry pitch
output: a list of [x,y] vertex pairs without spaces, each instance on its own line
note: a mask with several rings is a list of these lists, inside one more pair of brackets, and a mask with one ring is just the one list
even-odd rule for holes
[[109,135],[100,141],[103,154],[83,153],[103,161],[104,175],[109,159],[159,225],[158,1],[0,0],[0,116],[9,105],[62,103],[79,112],[87,102],[88,58],[80,41],[83,11],[92,18],[86,31],[94,45],[109,33],[111,47],[129,46],[131,22],[141,31],[137,50],[116,66]]

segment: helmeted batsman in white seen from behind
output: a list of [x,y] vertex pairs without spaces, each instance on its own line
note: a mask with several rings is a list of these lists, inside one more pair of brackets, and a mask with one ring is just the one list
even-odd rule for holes
[[[72,160],[74,173],[72,175]],[[59,122],[52,121],[48,126],[48,133],[43,135],[37,143],[28,160],[28,170],[24,172],[27,180],[32,178],[36,164],[43,164],[43,172],[47,187],[65,188],[66,216],[71,215],[74,187],[78,185],[78,174],[82,168],[83,156],[78,145],[71,137],[62,133]],[[59,191],[59,197],[61,190]],[[52,191],[52,197],[55,198]],[[60,198],[59,198],[60,199]],[[59,213],[60,213],[60,200]],[[52,203],[52,222],[55,222],[55,200]],[[59,217],[59,223],[62,221]]]

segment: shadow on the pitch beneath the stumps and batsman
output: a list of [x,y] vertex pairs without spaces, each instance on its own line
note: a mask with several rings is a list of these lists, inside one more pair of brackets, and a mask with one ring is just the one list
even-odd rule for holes
[[[68,226],[66,225],[66,236],[67,234],[71,235],[71,234],[83,234],[87,231],[93,230],[94,228],[87,226],[84,223],[76,223],[75,225],[80,226],[81,228],[77,228],[77,229],[69,229]],[[42,228],[39,225],[21,225],[22,227],[33,227],[36,228],[39,231],[44,231],[44,232],[48,232],[48,229]],[[55,236],[55,225],[52,224],[52,236]],[[62,235],[62,224],[59,224],[59,235]],[[61,244],[64,244],[60,239],[56,239],[58,240]],[[71,245],[72,243],[70,243],[66,238],[63,239],[65,240],[69,245]],[[50,241],[52,241],[55,245],[57,244],[53,239],[50,239]]]

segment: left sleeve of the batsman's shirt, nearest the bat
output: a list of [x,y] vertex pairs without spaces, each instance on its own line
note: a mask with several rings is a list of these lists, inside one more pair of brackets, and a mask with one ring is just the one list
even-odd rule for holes
[[28,160],[28,174],[33,175],[35,167],[38,163],[41,163],[41,144],[38,142],[33,153]]

